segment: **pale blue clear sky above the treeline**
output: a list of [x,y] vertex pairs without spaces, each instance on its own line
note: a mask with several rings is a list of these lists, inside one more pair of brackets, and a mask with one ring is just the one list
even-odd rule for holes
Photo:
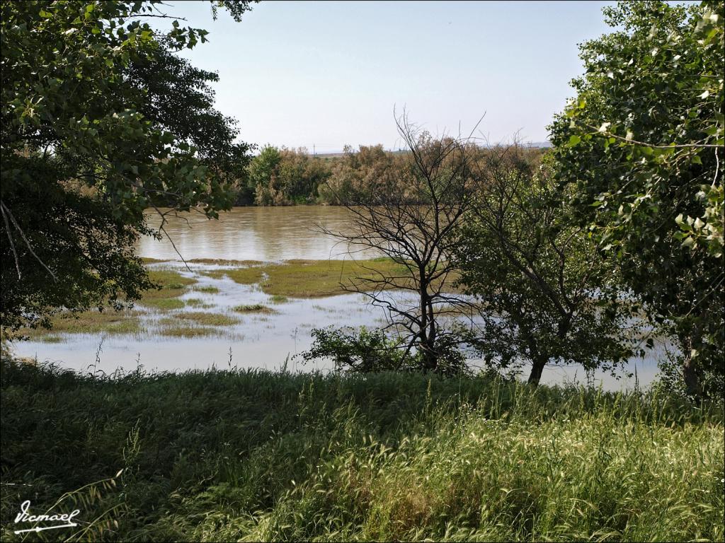
[[185,56],[219,73],[216,107],[258,146],[398,148],[394,110],[434,135],[547,140],[583,72],[578,43],[611,29],[599,1],[262,1],[234,22],[168,1],[209,30]]

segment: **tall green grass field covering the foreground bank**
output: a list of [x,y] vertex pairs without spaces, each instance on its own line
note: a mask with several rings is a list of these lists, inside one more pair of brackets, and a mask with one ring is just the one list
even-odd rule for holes
[[[91,541],[722,541],[721,406],[495,379],[3,361],[0,520]],[[33,527],[33,526],[24,526]]]

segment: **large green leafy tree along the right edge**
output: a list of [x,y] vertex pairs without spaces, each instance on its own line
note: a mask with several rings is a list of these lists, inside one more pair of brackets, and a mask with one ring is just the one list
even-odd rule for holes
[[689,393],[703,394],[703,379],[722,390],[724,7],[633,1],[604,13],[618,30],[581,45],[586,72],[550,127],[560,184],[676,338]]

